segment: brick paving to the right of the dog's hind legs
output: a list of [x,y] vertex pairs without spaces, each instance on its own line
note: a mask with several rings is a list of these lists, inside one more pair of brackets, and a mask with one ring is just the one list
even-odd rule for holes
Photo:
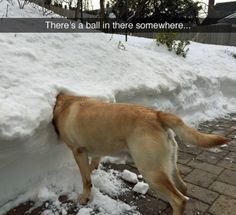
[[188,183],[186,214],[236,214],[236,114],[204,122],[199,130],[230,138],[231,144],[201,150],[180,144],[179,166]]

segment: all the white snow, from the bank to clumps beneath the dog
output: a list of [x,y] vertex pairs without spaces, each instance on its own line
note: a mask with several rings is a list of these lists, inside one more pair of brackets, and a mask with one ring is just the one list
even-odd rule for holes
[[[41,16],[30,5],[20,10],[10,2],[0,1],[1,17],[6,4],[8,17]],[[0,34],[0,213],[27,199],[81,192],[72,154],[51,124],[60,91],[144,104],[188,123],[235,111],[236,48],[194,42],[189,48],[184,59],[144,38],[125,43],[124,36],[103,33]],[[99,191],[117,195],[115,186],[122,186],[107,174],[95,171],[97,187],[84,214],[94,205],[107,214],[133,210]]]

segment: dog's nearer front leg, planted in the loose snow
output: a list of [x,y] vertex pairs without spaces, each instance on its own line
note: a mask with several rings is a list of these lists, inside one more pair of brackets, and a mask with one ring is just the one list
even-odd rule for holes
[[88,153],[86,148],[79,147],[73,150],[73,154],[76,163],[79,166],[80,174],[83,181],[83,193],[79,195],[79,203],[84,205],[87,204],[87,202],[90,199],[91,188],[92,188]]

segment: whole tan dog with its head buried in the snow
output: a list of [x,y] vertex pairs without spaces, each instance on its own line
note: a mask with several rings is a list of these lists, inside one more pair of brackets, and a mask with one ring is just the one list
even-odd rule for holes
[[[128,149],[139,172],[166,197],[174,215],[183,214],[187,188],[177,168],[177,143],[169,129],[181,141],[202,147],[228,142],[225,137],[188,127],[173,114],[89,97],[58,95],[53,123],[80,168],[81,204],[89,201],[90,173],[98,166],[100,157]],[[91,164],[88,156],[92,157]]]

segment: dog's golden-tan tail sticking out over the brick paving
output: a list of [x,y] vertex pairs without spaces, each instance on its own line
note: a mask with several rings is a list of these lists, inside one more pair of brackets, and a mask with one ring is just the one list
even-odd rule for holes
[[157,112],[157,118],[165,129],[172,129],[177,137],[184,143],[210,148],[229,142],[229,139],[225,137],[201,133],[190,128],[179,117],[173,114],[160,111]]

